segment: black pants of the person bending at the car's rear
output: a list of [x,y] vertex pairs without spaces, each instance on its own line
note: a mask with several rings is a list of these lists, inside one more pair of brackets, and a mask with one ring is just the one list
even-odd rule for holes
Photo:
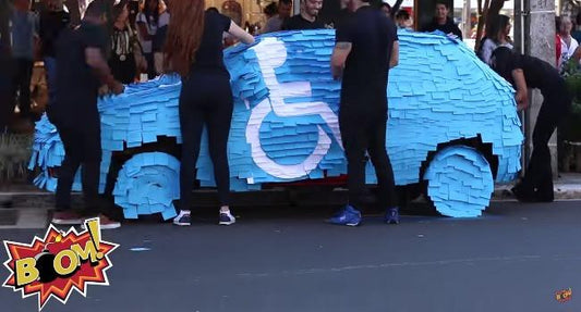
[[570,111],[571,97],[561,82],[555,83],[554,86],[547,86],[542,92],[544,100],[534,126],[533,152],[519,187],[524,194],[535,192],[536,199],[552,201],[554,199],[553,170],[548,141],[559,123]]

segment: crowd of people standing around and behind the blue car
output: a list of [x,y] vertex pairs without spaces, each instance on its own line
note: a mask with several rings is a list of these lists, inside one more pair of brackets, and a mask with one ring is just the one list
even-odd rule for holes
[[[0,84],[3,115],[0,126],[4,128],[5,116],[16,105],[13,99],[19,99],[23,118],[36,118],[29,112],[29,85],[35,54],[40,53],[49,88],[47,114],[57,126],[65,149],[52,222],[82,222],[83,216],[72,210],[70,196],[74,174],[82,166],[85,213],[100,215],[102,228],[119,227],[120,223],[110,219],[104,209],[108,204],[97,196],[101,158],[98,95],[121,93],[123,84],[137,82],[142,74],[150,79],[162,73],[177,73],[183,83],[179,102],[183,146],[179,214],[173,223],[191,224],[193,173],[202,129],[206,125],[220,201],[219,224],[233,224],[226,151],[233,103],[222,49],[238,41],[250,45],[254,37],[216,8],[206,10],[203,0],[171,0],[169,3],[145,0],[141,9],[133,3],[136,2],[121,0],[111,7],[110,1],[95,0],[87,7],[82,23],[71,25],[62,0],[47,0],[46,10],[39,15],[31,12],[29,0],[14,0],[9,7],[12,41],[0,33],[0,64],[12,73],[0,75],[0,83],[4,82]],[[261,33],[337,29],[330,65],[332,76],[341,80],[339,126],[348,160],[349,204],[330,222],[360,224],[368,155],[376,170],[379,202],[386,209],[385,221],[397,224],[398,199],[386,152],[386,90],[389,68],[399,62],[397,29],[412,28],[413,20],[404,9],[391,8],[388,3],[372,5],[370,0],[340,0],[341,11],[332,18],[320,18],[323,0],[301,0],[300,5],[300,13],[294,16],[291,16],[291,0],[268,5],[265,14],[269,17]],[[580,18],[577,17],[578,25]],[[569,59],[579,61],[581,58],[581,48],[574,38],[580,35],[579,28],[574,30],[572,21],[566,16],[558,22],[557,68]],[[433,21],[421,29],[462,38],[445,2],[437,1]],[[554,65],[512,50],[510,29],[508,16],[496,16],[486,29],[477,55],[515,86],[519,109],[529,104],[528,88],[538,88],[543,92],[545,100],[533,134],[532,159],[526,175],[513,192],[522,201],[552,201],[547,142],[567,114],[571,98]]]

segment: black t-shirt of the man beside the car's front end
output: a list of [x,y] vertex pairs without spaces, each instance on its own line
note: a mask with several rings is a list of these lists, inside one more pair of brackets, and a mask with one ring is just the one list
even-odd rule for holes
[[86,63],[85,49],[97,48],[105,59],[107,41],[105,26],[86,22],[76,30],[61,32],[56,45],[57,101],[49,109],[49,116],[75,125],[98,120],[97,96],[101,84]]

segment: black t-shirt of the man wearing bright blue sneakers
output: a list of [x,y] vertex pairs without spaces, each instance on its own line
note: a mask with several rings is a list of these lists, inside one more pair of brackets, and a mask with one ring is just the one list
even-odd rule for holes
[[[383,12],[363,7],[337,29],[337,42],[351,42],[341,84],[341,104],[387,105],[387,80],[397,27]],[[361,103],[360,103],[361,102]]]

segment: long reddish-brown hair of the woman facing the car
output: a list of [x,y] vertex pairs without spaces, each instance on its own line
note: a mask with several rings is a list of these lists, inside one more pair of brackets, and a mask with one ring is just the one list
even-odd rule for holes
[[205,1],[172,0],[171,22],[166,38],[166,68],[185,77],[195,61],[204,34]]

